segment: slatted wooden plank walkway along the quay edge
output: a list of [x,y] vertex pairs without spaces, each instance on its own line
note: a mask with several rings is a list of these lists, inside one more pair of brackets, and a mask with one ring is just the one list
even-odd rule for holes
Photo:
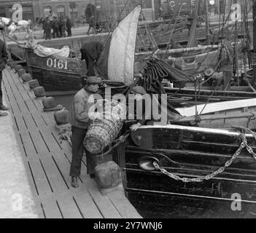
[[[79,188],[71,187],[71,146],[59,140],[53,112],[44,112],[28,84],[10,68],[3,90],[39,218],[141,218],[121,189],[103,194],[82,161]],[[14,139],[15,140],[15,139]]]

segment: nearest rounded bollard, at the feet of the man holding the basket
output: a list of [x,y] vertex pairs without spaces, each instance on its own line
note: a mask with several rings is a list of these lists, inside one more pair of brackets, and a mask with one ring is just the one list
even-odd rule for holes
[[98,186],[102,189],[114,188],[122,182],[120,167],[114,162],[104,162],[94,168]]

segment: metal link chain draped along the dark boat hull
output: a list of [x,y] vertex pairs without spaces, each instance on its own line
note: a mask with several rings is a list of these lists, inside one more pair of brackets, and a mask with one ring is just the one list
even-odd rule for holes
[[161,173],[165,174],[165,175],[168,175],[169,177],[173,178],[174,180],[176,181],[182,181],[184,183],[188,183],[188,182],[202,182],[202,181],[207,181],[211,178],[214,178],[214,176],[222,173],[226,167],[229,167],[233,160],[235,160],[239,154],[241,154],[241,151],[244,149],[244,147],[247,148],[247,151],[249,152],[249,154],[252,154],[252,156],[256,159],[256,154],[255,152],[253,151],[252,147],[250,147],[248,144],[247,144],[247,138],[246,136],[241,133],[241,145],[239,146],[239,148],[236,150],[236,152],[233,154],[233,156],[231,157],[231,159],[229,159],[227,162],[225,162],[225,165],[223,167],[220,167],[218,170],[214,171],[213,173],[209,174],[209,175],[205,175],[205,176],[201,176],[201,177],[197,177],[197,178],[181,178],[179,177],[179,175],[174,175],[173,173],[168,173],[167,170],[161,168],[159,165],[158,165],[158,162],[153,162],[153,165],[155,166],[155,169],[156,170],[160,170]]

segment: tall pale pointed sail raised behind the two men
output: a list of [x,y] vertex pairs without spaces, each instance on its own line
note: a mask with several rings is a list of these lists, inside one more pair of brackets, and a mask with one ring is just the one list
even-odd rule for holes
[[128,14],[109,36],[96,66],[99,73],[116,82],[133,82],[136,34],[141,6]]

